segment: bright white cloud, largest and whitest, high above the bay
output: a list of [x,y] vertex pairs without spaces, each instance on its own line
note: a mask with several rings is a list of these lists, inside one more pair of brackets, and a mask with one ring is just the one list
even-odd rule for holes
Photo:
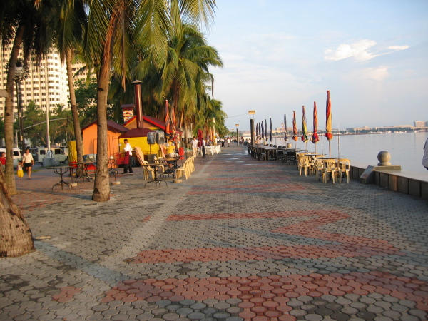
[[377,55],[369,52],[369,49],[376,44],[376,41],[363,39],[352,44],[341,44],[337,49],[327,49],[325,60],[342,60],[354,57],[357,61],[367,61]]

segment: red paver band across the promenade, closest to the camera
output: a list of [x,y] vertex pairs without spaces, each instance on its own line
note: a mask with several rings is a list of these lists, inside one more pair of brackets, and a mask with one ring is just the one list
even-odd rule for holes
[[[361,288],[365,289],[366,294],[388,294],[397,298],[402,298],[402,295],[405,295],[406,300],[419,302],[418,307],[420,310],[427,310],[428,293],[421,290],[427,287],[427,283],[417,279],[408,280],[408,286],[405,289],[410,292],[400,292],[399,290],[391,291],[387,289],[387,286],[397,281],[398,278],[397,275],[390,273],[369,272],[350,273],[347,275],[332,273],[331,275],[314,276],[289,275],[287,277],[280,277],[279,275],[275,275],[272,279],[271,277],[253,275],[240,278],[208,277],[198,279],[197,277],[188,277],[185,280],[171,278],[163,280],[163,282],[152,279],[138,282],[123,281],[119,282],[112,290],[108,290],[105,293],[105,297],[101,299],[101,302],[111,302],[112,300],[123,302],[131,302],[133,300],[158,302],[164,298],[168,298],[171,301],[179,301],[183,300],[183,297],[197,301],[208,298],[215,298],[217,300],[239,298],[243,300],[243,302],[238,304],[238,307],[243,309],[243,312],[239,315],[247,319],[251,315],[260,317],[283,315],[283,313],[292,310],[292,307],[287,306],[287,302],[292,297],[299,297],[300,295],[310,295],[312,297],[335,295],[342,297],[350,293],[356,294],[356,288]],[[354,277],[361,282],[353,280]],[[370,281],[371,277],[377,277],[377,286],[368,285],[369,282],[372,282]],[[325,285],[320,287],[320,281],[324,281]],[[215,289],[208,287],[208,285],[218,284],[219,282],[223,285],[238,285],[238,291],[232,291],[229,286],[223,285],[215,287]],[[166,283],[169,285],[168,289],[164,288]],[[125,284],[127,286],[124,286]],[[151,289],[148,289],[148,284],[151,285]],[[310,291],[308,288],[313,290]],[[138,290],[139,292],[136,293],[136,291],[133,291],[130,294],[129,289]],[[193,289],[193,291],[189,289]],[[174,296],[173,293],[175,292],[179,292],[180,295]]]

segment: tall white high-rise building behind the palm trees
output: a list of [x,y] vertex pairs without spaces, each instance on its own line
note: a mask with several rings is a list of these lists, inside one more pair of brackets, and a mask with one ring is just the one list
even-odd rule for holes
[[[6,89],[7,65],[11,54],[11,45],[0,46],[1,73],[0,89]],[[21,54],[19,59],[23,59]],[[32,61],[31,57],[29,61]],[[30,101],[34,101],[42,111],[47,108],[51,111],[58,103],[68,108],[68,81],[65,64],[61,63],[55,49],[42,59],[39,65],[28,66],[26,78],[21,81],[21,103],[25,110]],[[4,118],[6,98],[0,98],[0,118]],[[14,86],[14,114],[18,112],[16,86]]]

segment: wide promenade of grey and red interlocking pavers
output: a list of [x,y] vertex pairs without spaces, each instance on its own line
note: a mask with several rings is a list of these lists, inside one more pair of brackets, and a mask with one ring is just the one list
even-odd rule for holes
[[105,203],[58,180],[16,180],[37,250],[0,259],[0,320],[428,319],[428,200],[241,146],[183,183],[136,168]]

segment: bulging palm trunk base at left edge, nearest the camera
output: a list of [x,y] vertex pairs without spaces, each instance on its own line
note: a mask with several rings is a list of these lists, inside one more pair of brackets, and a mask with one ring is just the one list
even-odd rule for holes
[[4,175],[0,170],[0,258],[16,257],[33,250],[29,223],[9,197]]

